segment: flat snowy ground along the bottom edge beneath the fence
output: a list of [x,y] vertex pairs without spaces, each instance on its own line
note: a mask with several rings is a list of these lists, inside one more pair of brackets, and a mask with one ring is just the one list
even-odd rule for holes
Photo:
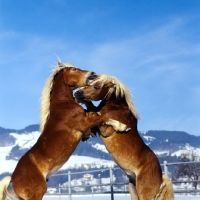
[[[48,196],[45,195],[43,200],[111,200],[110,194],[94,194],[94,195],[72,195],[71,199],[67,195]],[[200,196],[191,195],[175,195],[175,200],[199,200]],[[114,194],[114,200],[131,200],[129,194]]]

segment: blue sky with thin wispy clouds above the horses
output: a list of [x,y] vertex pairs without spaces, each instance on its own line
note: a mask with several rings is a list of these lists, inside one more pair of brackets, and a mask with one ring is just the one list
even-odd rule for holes
[[55,54],[127,85],[140,131],[200,135],[199,0],[1,0],[1,127],[39,123]]

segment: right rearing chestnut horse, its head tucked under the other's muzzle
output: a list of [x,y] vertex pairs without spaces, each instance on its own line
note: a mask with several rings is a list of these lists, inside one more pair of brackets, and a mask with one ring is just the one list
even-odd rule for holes
[[[101,114],[131,128],[129,132],[122,134],[117,133],[111,126],[99,126],[100,138],[106,149],[129,177],[131,199],[174,199],[171,181],[162,175],[157,156],[139,135],[139,116],[128,88],[116,77],[102,74],[74,95],[79,102],[85,103],[89,111],[100,111]],[[101,102],[95,107],[92,100]]]

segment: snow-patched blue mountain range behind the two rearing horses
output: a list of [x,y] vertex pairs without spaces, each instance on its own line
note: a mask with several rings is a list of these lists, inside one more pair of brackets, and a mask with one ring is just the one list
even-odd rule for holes
[[[0,174],[12,172],[20,157],[30,149],[40,135],[39,125],[30,125],[21,130],[0,127]],[[200,137],[182,131],[140,132],[144,142],[156,153],[160,162],[177,161],[181,149],[200,150]],[[179,153],[177,153],[179,152]],[[113,164],[112,158],[99,137],[80,142],[62,170],[69,168],[102,167]]]

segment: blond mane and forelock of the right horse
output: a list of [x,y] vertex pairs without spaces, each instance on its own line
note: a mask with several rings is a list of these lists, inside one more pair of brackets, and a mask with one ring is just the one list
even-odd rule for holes
[[96,82],[101,82],[102,86],[106,83],[112,82],[114,84],[114,87],[109,88],[109,91],[108,91],[106,97],[110,96],[114,92],[115,92],[115,95],[117,98],[124,97],[131,113],[135,116],[136,119],[139,119],[137,110],[132,101],[131,93],[130,93],[129,89],[121,81],[119,81],[114,76],[101,74],[98,76],[98,78],[95,81],[93,81],[92,84],[94,84]]

